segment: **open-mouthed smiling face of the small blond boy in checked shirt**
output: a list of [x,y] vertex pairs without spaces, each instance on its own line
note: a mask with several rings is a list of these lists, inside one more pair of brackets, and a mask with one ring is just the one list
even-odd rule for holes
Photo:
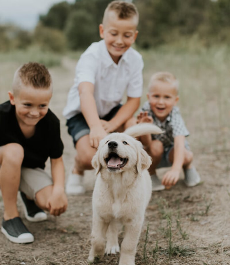
[[159,80],[152,82],[147,98],[152,111],[162,122],[167,118],[179,100],[175,86]]

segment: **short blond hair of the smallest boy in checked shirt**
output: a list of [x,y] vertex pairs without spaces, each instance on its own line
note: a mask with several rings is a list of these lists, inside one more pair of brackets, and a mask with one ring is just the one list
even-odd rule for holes
[[154,81],[161,81],[161,82],[169,83],[176,89],[177,93],[179,91],[179,81],[177,80],[175,75],[173,75],[172,73],[157,72],[157,73],[153,74],[150,78],[150,82],[149,82],[149,86],[148,86],[149,90],[152,87],[152,83]]

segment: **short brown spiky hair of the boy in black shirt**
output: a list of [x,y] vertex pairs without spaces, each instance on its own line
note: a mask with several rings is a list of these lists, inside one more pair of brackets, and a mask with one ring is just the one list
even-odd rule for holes
[[45,65],[36,62],[29,62],[16,70],[12,89],[14,93],[17,93],[23,86],[49,89],[51,88],[51,85],[51,75]]

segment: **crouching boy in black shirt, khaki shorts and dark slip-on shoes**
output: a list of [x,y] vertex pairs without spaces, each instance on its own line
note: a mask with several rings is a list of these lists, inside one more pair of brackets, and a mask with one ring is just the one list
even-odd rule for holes
[[[1,232],[12,242],[29,243],[34,237],[19,217],[18,190],[29,221],[47,219],[43,210],[54,216],[66,211],[63,143],[60,122],[48,108],[52,81],[45,66],[27,63],[20,67],[12,90],[10,100],[0,105]],[[52,178],[44,171],[48,157]]]

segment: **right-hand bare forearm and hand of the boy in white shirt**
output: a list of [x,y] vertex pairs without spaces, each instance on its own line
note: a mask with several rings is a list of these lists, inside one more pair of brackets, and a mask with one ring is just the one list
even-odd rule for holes
[[118,110],[114,118],[110,121],[102,121],[103,128],[109,133],[117,130],[122,124],[127,122],[140,105],[140,98],[127,98],[127,102]]

